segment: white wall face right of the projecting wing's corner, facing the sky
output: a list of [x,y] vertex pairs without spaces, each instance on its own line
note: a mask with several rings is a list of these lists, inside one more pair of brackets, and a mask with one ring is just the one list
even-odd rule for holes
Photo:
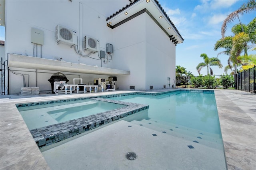
[[175,45],[149,16],[146,28],[146,89],[168,88],[167,77],[175,79]]

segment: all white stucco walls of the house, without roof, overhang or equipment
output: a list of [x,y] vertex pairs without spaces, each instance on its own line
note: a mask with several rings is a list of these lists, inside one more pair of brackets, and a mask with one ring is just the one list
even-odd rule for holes
[[[42,58],[58,59],[73,63],[85,63],[113,69],[130,71],[130,75],[118,76],[117,86],[127,90],[136,86],[136,90],[168,88],[167,77],[175,79],[175,45],[157,24],[143,13],[136,18],[111,29],[106,26],[106,18],[129,4],[128,0],[54,0],[54,1],[6,1],[6,58],[7,53],[33,56],[34,44],[31,43],[31,28],[44,31]],[[47,10],[46,10],[47,9]],[[106,51],[106,43],[113,44],[112,60],[107,64],[89,57],[79,57],[74,48],[55,42],[57,24],[78,32],[78,48],[82,50],[83,37],[88,35],[100,40],[100,50]],[[88,51],[83,52],[84,55]],[[38,45],[40,57],[40,45]],[[98,54],[90,57],[97,58]],[[56,71],[20,69],[10,67],[16,73],[29,74],[29,86],[38,86],[41,91],[51,90],[47,81]],[[40,72],[40,73],[39,73]],[[73,78],[82,78],[83,83],[106,75],[68,73],[69,83]],[[26,85],[28,77],[25,75]],[[171,85],[172,86],[172,85]],[[22,76],[10,73],[10,94],[19,93],[23,87]]]

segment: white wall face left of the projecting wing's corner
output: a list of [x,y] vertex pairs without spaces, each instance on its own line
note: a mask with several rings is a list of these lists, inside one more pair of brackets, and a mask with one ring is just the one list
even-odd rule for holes
[[131,72],[130,75],[119,76],[118,86],[120,89],[128,90],[135,86],[136,90],[145,89],[146,83],[146,14],[113,29],[113,40],[115,44],[113,67]]

